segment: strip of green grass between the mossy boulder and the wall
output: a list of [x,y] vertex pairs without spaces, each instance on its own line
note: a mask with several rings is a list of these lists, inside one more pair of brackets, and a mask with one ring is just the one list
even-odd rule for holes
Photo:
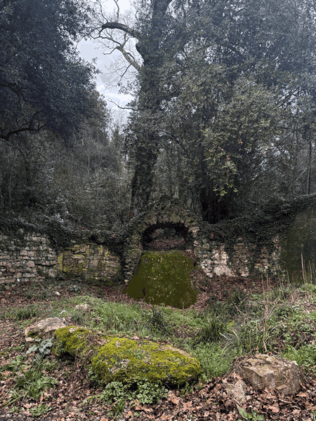
[[[89,329],[168,340],[196,356],[204,379],[210,380],[226,373],[235,356],[256,352],[297,356],[309,373],[312,361],[316,361],[312,348],[316,341],[316,312],[305,311],[306,300],[316,300],[315,286],[283,285],[252,295],[235,290],[226,302],[210,300],[202,313],[164,306],[148,310],[141,303],[106,302],[78,293],[71,300],[55,300],[51,315],[60,316],[63,310],[75,324]],[[74,310],[77,304],[84,303],[90,305],[89,312]]]

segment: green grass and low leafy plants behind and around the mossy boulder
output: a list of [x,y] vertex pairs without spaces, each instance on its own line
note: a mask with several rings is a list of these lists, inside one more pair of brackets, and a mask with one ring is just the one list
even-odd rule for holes
[[[295,360],[306,375],[316,375],[316,286],[281,283],[272,290],[268,281],[264,286],[262,294],[247,295],[235,290],[225,302],[209,300],[209,307],[202,312],[171,307],[143,308],[141,302],[133,305],[107,302],[93,294],[83,295],[81,288],[77,288],[70,300],[52,298],[49,309],[39,305],[11,309],[1,319],[24,325],[35,318],[67,316],[72,323],[92,331],[163,341],[184,349],[200,361],[202,382],[227,373],[236,356],[268,352]],[[53,288],[58,290],[60,286]],[[89,309],[75,310],[77,304],[88,304]],[[46,357],[50,346],[51,342],[38,342],[29,351],[34,356],[31,362],[29,355],[21,352],[1,368],[1,372],[10,373],[13,379],[7,406],[16,405],[25,396],[39,399],[45,390],[55,387],[56,380],[49,375],[52,362]],[[56,360],[55,364],[59,362]],[[168,391],[166,385],[143,381],[101,385],[93,373],[90,381],[95,387],[103,387],[98,399],[113,403],[114,415],[121,412],[126,401],[137,399],[142,404],[151,404]],[[34,415],[48,410],[44,405],[37,406]]]

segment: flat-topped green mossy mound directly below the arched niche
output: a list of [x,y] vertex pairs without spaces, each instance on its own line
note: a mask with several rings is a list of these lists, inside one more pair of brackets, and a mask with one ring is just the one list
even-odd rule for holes
[[197,300],[197,290],[191,286],[193,266],[193,260],[182,251],[148,251],[140,258],[124,294],[136,300],[144,298],[152,305],[190,307]]

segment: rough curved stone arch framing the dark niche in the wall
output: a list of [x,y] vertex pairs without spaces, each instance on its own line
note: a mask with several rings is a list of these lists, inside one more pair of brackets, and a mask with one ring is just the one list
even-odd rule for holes
[[[124,248],[124,269],[123,276],[125,283],[133,276],[138,265],[141,255],[150,242],[150,235],[157,229],[170,230],[176,233],[174,248],[176,243],[180,246],[180,250],[193,250],[197,246],[197,236],[199,236],[200,225],[202,220],[187,210],[183,204],[170,199],[163,199],[159,203],[153,203],[147,208],[147,212],[137,215],[131,220],[128,235],[126,236],[126,246]],[[180,243],[180,240],[182,240]],[[171,241],[172,243],[172,241]],[[177,248],[178,249],[178,248]]]

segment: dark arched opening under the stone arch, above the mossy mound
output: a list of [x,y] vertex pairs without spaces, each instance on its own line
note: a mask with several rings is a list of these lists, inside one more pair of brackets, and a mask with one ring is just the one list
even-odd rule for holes
[[187,250],[192,249],[193,241],[189,229],[181,223],[152,225],[143,233],[144,250]]

